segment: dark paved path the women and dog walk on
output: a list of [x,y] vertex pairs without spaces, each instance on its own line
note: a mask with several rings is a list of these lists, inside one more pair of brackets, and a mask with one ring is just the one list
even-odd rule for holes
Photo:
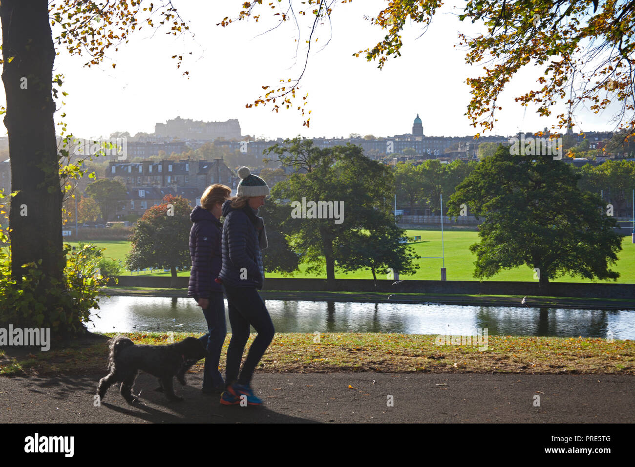
[[[111,387],[93,406],[100,377],[0,377],[0,423],[633,423],[635,376],[514,374],[270,374],[253,387],[264,407],[224,406],[188,374],[184,402],[152,391],[141,374],[131,407]],[[352,388],[349,388],[352,386]],[[534,396],[540,396],[540,407]],[[390,397],[392,396],[392,398]],[[389,402],[392,399],[392,407]]]

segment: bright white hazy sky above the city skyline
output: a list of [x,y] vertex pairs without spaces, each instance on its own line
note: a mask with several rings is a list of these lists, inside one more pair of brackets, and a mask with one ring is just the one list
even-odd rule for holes
[[[312,44],[299,91],[300,95],[309,93],[307,109],[312,113],[307,129],[295,109],[276,114],[269,105],[246,109],[245,104],[260,95],[260,86],[297,76],[309,23],[302,25],[301,47],[295,60],[297,30],[291,22],[256,37],[276,24],[267,8],[261,8],[258,23],[250,19],[225,28],[216,25],[240,11],[241,3],[173,0],[181,17],[189,21],[194,37],[185,33],[175,38],[165,34],[168,29],[146,25],[132,34],[128,44],[119,46],[119,51],[109,50],[108,58],[98,67],[83,67],[86,55],[70,57],[58,46],[54,74],[65,74],[62,89],[69,95],[64,98],[62,111],[70,132],[80,137],[107,136],[115,131],[152,133],[155,123],[180,116],[203,121],[237,118],[243,135],[256,137],[347,137],[349,133],[388,136],[409,133],[417,113],[425,135],[471,135],[481,131],[472,128],[464,116],[470,99],[465,78],[477,76],[479,69],[466,65],[465,51],[453,47],[458,43],[458,30],[476,35],[476,29],[469,22],[460,22],[452,14],[458,10],[450,4],[441,8],[424,36],[417,39],[420,29],[416,25],[408,27],[403,32],[402,56],[389,59],[380,71],[377,63],[366,61],[363,55],[352,57],[352,53],[372,48],[385,35],[363,17],[375,16],[387,2],[333,3],[330,44],[318,52],[331,36],[326,24],[319,30],[318,42]],[[154,23],[158,22],[156,16]],[[58,30],[53,32],[57,36]],[[186,55],[190,51],[192,55]],[[176,60],[170,58],[175,54],[185,58],[180,70],[176,69]],[[113,62],[116,69],[112,68]],[[185,70],[190,72],[190,79],[182,76]],[[498,113],[494,131],[483,134],[537,131],[556,121],[538,118],[535,109],[525,110],[513,100],[521,91],[535,87],[536,71],[528,67],[516,77],[500,101],[503,111]],[[4,88],[0,92],[4,93]],[[0,98],[6,102],[4,95]],[[56,122],[62,111],[55,114]],[[578,116],[582,125],[575,130],[612,130],[609,118],[608,113],[582,113]]]

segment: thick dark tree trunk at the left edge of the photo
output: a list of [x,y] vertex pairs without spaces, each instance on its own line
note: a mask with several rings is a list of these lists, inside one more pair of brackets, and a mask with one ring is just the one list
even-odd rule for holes
[[[42,260],[40,286],[62,280],[62,191],[51,94],[55,48],[46,0],[2,0],[4,125],[11,159],[11,274]],[[13,57],[11,62],[10,58]]]

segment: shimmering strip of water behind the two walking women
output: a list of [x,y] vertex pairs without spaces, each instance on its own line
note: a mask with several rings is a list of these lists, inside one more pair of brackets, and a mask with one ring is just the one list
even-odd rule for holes
[[[100,318],[93,317],[95,326],[89,325],[90,330],[205,330],[203,313],[194,299],[102,297],[100,303]],[[489,335],[635,338],[635,311],[627,310],[279,300],[266,304],[277,332],[476,335],[477,328],[487,328]]]

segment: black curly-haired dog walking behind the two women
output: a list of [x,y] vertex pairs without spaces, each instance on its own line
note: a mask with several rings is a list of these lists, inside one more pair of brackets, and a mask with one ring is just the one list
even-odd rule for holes
[[[157,391],[163,390],[169,400],[183,400],[174,393],[172,378],[177,376],[186,360],[197,361],[207,355],[203,343],[195,337],[186,337],[180,342],[164,346],[136,346],[128,337],[117,335],[110,339],[109,348],[110,372],[99,380],[97,394],[100,400],[103,400],[110,385],[121,382],[121,395],[131,405],[137,402],[137,396],[132,393],[132,386],[137,379],[138,370],[144,370],[159,378],[160,386]],[[177,378],[185,386],[183,375],[180,374]]]

